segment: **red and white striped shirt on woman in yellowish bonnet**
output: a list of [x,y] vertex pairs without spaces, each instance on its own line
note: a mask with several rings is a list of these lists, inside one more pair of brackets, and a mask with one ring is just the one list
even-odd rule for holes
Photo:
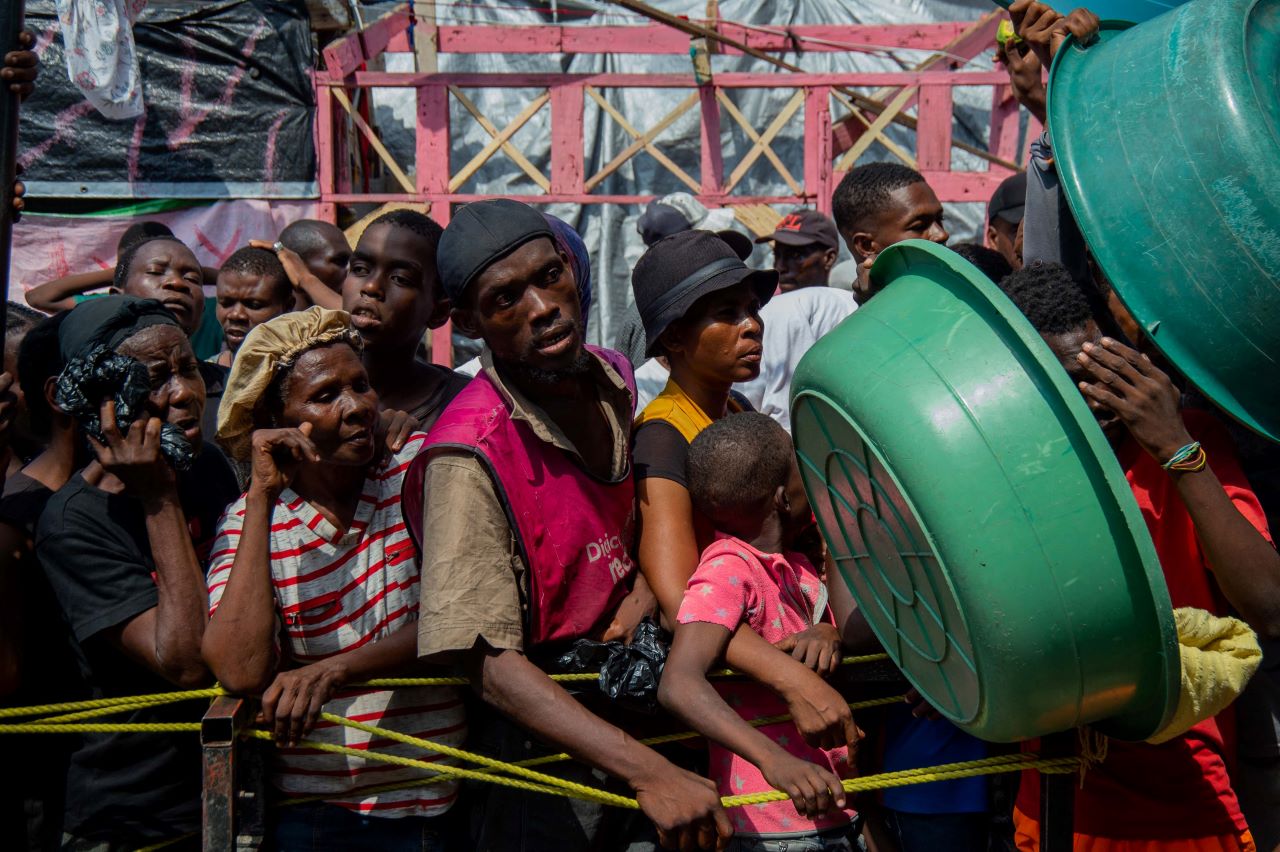
[[[285,643],[285,659],[305,665],[357,649],[417,620],[419,560],[401,513],[401,485],[426,435],[365,480],[351,530],[333,527],[292,489],[271,514],[271,585]],[[210,555],[212,613],[230,577],[244,523],[244,498],[219,522]],[[462,697],[454,687],[343,690],[326,713],[449,746],[466,736]],[[421,748],[320,722],[311,739],[348,748],[449,762]],[[273,782],[285,796],[325,796],[335,805],[378,816],[433,816],[457,798],[457,783],[442,780],[381,793],[362,789],[424,778],[419,769],[367,761],[311,748],[278,748]]]

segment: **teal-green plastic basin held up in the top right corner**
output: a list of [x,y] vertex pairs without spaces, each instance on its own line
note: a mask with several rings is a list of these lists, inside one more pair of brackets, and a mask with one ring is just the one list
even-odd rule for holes
[[1280,440],[1280,0],[1193,0],[1069,40],[1048,122],[1121,301],[1210,399]]

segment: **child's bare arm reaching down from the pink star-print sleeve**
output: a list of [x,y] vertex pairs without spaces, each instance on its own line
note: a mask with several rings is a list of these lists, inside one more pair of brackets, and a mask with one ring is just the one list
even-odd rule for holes
[[[730,632],[719,624],[691,622],[676,631],[658,686],[658,700],[673,715],[704,737],[750,761],[774,788],[791,797],[804,815],[819,815],[832,805],[845,806],[845,788],[831,771],[799,760],[746,724],[707,679],[724,654]],[[768,643],[765,643],[768,645]],[[769,647],[771,663],[791,658]],[[809,677],[818,675],[809,672]]]

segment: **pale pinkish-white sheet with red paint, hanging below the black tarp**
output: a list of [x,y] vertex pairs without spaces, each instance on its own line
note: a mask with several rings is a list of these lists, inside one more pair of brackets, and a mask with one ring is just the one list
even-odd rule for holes
[[187,243],[200,262],[218,269],[251,239],[275,239],[297,219],[314,219],[314,201],[218,201],[138,216],[26,215],[13,229],[9,298],[55,278],[115,266],[115,246],[136,221],[160,221]]

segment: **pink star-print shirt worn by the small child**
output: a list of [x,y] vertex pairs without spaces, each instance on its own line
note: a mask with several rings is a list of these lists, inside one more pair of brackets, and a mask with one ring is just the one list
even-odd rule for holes
[[[698,571],[689,578],[677,620],[719,624],[733,631],[746,623],[769,642],[813,627],[833,623],[827,609],[827,588],[806,558],[797,553],[760,553],[739,539],[724,536],[703,551]],[[724,701],[746,720],[786,715],[787,705],[771,690],[744,681],[716,681]],[[801,760],[831,769],[840,778],[852,778],[849,751],[810,748],[791,722],[760,728]],[[773,789],[754,765],[727,748],[709,743],[710,775],[721,796],[741,796]],[[730,819],[739,834],[794,834],[822,832],[847,825],[852,809],[826,814],[817,820],[800,816],[790,801],[735,807]]]

